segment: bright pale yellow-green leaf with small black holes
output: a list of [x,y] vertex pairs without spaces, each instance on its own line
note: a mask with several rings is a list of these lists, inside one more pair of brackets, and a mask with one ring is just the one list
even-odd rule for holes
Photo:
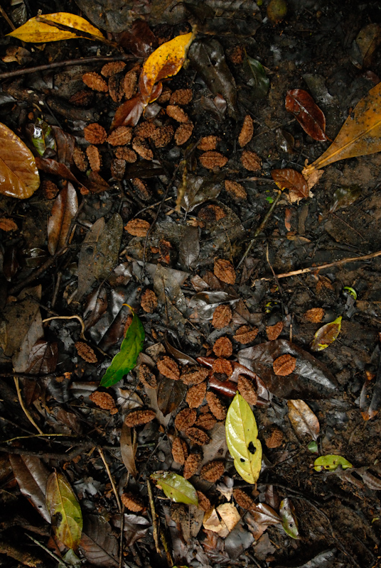
[[238,393],[227,410],[225,432],[235,469],[247,483],[254,484],[261,471],[262,445],[252,409]]

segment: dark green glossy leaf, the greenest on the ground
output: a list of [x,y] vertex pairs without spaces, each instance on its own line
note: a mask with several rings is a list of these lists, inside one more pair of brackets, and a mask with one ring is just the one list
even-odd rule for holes
[[143,349],[144,327],[136,314],[132,317],[132,322],[127,329],[126,337],[122,341],[120,351],[114,356],[111,365],[100,381],[100,386],[109,387],[122,380],[124,375],[136,365],[136,359]]

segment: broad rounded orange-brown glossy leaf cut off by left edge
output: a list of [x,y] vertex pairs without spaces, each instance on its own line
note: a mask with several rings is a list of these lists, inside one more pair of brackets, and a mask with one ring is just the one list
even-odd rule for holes
[[33,154],[8,126],[0,123],[0,193],[25,200],[39,186]]

